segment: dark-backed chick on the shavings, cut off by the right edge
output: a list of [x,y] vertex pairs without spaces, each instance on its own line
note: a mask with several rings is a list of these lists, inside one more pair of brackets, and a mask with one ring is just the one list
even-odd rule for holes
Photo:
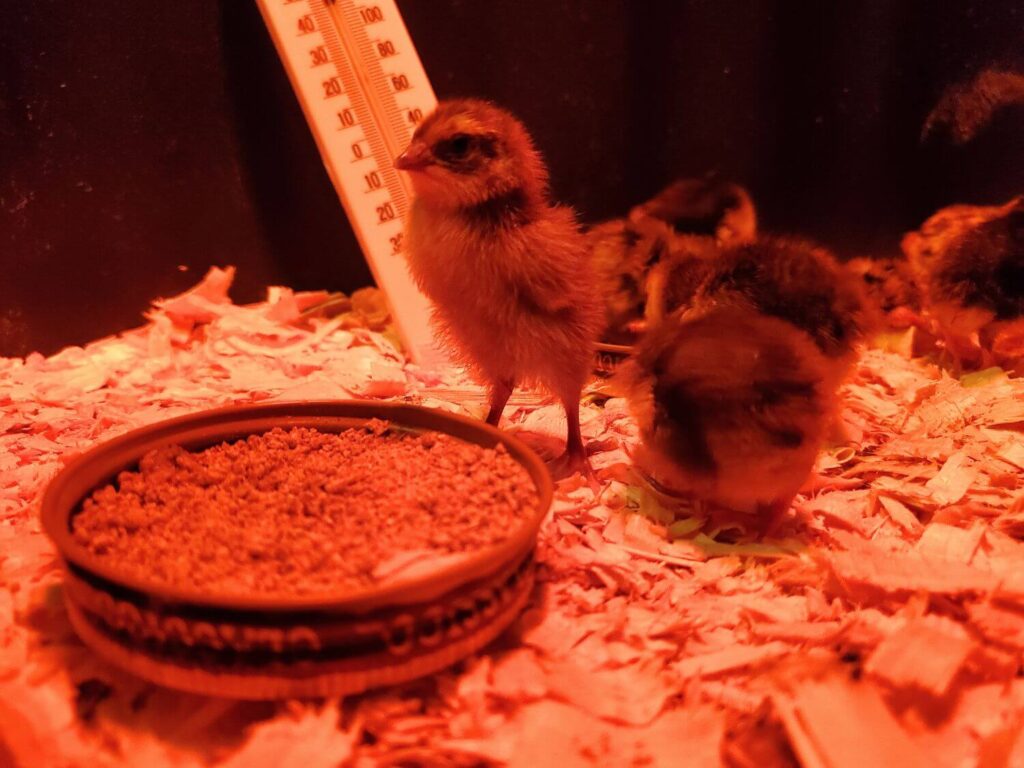
[[902,246],[957,366],[1020,365],[997,350],[1024,318],[1024,196],[1001,206],[944,208]]

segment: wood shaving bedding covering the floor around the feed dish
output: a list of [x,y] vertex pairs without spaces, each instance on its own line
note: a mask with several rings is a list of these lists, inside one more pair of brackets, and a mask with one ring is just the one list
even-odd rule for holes
[[[1021,765],[1024,381],[963,386],[880,350],[846,388],[851,444],[822,455],[780,540],[666,514],[631,484],[625,403],[588,397],[601,487],[560,484],[530,605],[457,668],[255,705],[100,663],[71,631],[38,520],[77,453],[230,403],[484,408],[460,372],[404,362],[386,331],[304,317],[323,293],[237,306],[232,275],[157,302],[143,328],[0,359],[0,765]],[[559,408],[521,393],[503,426],[560,447]]]

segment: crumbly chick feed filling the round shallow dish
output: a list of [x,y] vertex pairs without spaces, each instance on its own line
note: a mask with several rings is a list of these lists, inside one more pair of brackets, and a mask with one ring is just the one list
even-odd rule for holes
[[379,581],[389,558],[473,551],[537,505],[504,446],[393,431],[273,429],[198,453],[157,449],[96,490],[76,541],[125,573],[227,594],[310,594]]

